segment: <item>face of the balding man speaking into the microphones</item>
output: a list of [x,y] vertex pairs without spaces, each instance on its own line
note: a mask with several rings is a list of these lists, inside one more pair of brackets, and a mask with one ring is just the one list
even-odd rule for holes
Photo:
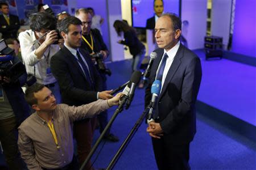
[[155,40],[159,48],[170,50],[179,41],[180,29],[174,31],[168,16],[160,17],[155,24]]

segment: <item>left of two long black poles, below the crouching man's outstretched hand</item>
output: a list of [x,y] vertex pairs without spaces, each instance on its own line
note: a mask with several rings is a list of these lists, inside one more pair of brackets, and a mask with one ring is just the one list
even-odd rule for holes
[[102,141],[102,138],[104,138],[104,135],[106,134],[106,131],[109,129],[109,127],[113,124],[115,117],[117,117],[117,114],[123,111],[123,105],[125,105],[128,97],[126,95],[123,96],[124,98],[121,100],[121,103],[119,104],[118,108],[115,110],[113,116],[110,118],[108,124],[106,125],[105,129],[102,131],[100,137],[97,139],[95,145],[93,146],[92,150],[90,150],[89,155],[85,159],[84,163],[82,163],[80,170],[84,169],[85,165],[89,162],[90,158],[92,158],[92,155],[96,151],[98,145],[100,145],[100,142]]

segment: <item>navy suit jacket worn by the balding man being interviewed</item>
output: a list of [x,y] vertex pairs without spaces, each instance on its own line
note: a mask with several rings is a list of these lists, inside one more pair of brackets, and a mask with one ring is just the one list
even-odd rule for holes
[[[164,50],[156,49],[155,59],[146,88],[145,105],[150,103],[150,88]],[[201,83],[201,62],[191,50],[180,44],[158,97],[155,112],[158,113],[164,137],[170,142],[191,142],[196,133],[195,103]]]

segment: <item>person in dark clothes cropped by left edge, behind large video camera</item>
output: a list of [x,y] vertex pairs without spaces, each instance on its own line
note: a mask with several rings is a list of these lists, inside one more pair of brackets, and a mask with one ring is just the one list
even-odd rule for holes
[[[20,62],[17,57],[11,59],[13,65],[17,62]],[[17,127],[30,114],[30,108],[24,99],[21,88],[26,83],[27,73],[23,69],[24,73],[21,73],[18,79],[11,79],[10,75],[5,72],[11,63],[0,60],[0,141],[9,169],[22,169],[23,164],[17,145]],[[24,67],[24,65],[22,66]]]

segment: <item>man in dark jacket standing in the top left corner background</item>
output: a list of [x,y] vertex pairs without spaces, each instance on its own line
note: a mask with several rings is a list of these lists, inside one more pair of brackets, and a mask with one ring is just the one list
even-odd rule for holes
[[20,27],[19,18],[16,15],[9,14],[9,6],[7,3],[0,3],[0,32],[2,39],[17,38],[17,32]]

